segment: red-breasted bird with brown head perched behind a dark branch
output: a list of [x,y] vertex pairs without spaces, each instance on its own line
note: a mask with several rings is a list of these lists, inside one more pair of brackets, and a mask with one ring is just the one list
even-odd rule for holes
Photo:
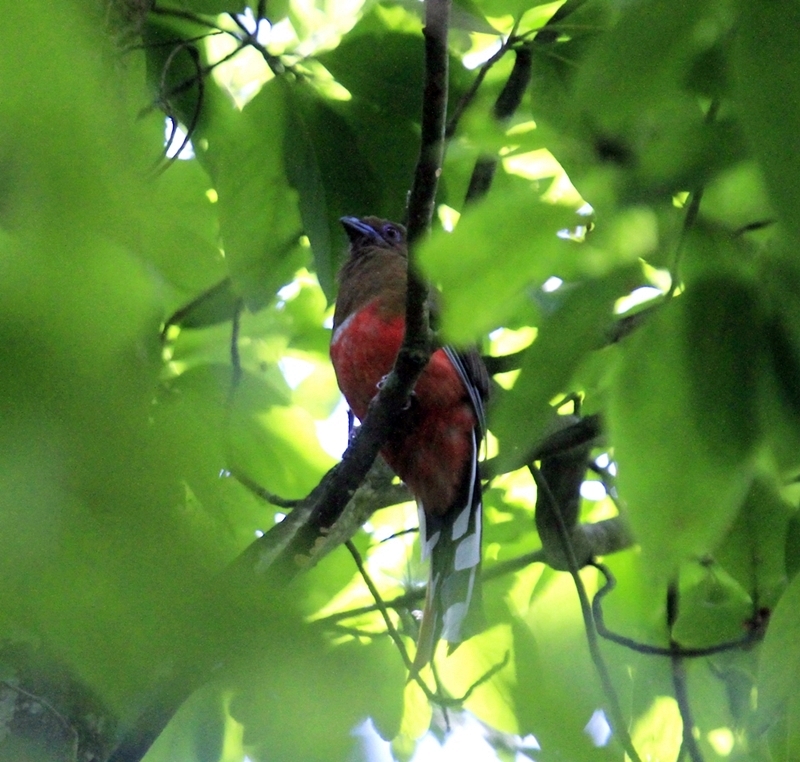
[[[377,217],[343,217],[350,252],[339,273],[331,360],[339,388],[363,419],[405,333],[405,229]],[[417,500],[423,559],[431,571],[415,665],[436,643],[452,650],[480,629],[481,482],[489,377],[475,350],[432,354],[408,409],[381,450]]]

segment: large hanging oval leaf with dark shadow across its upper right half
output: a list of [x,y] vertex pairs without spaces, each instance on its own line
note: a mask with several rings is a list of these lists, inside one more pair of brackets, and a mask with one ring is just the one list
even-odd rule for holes
[[709,552],[752,476],[760,363],[749,284],[708,278],[629,339],[612,392],[620,497],[651,569]]

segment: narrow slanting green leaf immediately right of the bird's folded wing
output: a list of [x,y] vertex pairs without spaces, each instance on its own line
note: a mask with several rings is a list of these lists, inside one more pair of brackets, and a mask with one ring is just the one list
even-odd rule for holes
[[623,270],[576,286],[539,326],[514,388],[492,411],[491,428],[500,440],[502,471],[522,465],[541,439],[554,415],[551,400],[570,391],[569,380],[578,364],[599,349],[614,302],[628,292],[637,275],[635,269]]

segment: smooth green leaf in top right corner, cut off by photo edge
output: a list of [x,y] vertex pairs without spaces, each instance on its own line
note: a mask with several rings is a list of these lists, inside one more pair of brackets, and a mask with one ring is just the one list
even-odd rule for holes
[[800,6],[740,3],[733,72],[738,115],[781,221],[800,237]]

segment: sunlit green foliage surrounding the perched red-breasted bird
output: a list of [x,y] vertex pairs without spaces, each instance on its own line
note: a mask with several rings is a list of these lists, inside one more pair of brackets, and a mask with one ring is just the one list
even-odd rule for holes
[[[287,512],[264,491],[302,498],[336,460],[317,432],[338,219],[405,214],[422,4],[7,5],[2,759],[139,759],[171,720],[148,762],[337,760],[368,717],[408,759],[462,708],[503,759],[622,760],[628,734],[642,759],[798,758],[795,0],[455,3],[459,118],[417,256],[443,336],[512,357],[488,627],[421,675],[428,696],[351,555],[413,647],[400,488],[291,582],[265,585],[254,545]],[[165,114],[195,158],[164,158]],[[466,203],[476,162],[491,189]],[[553,555],[527,466],[572,412],[603,432]]]

